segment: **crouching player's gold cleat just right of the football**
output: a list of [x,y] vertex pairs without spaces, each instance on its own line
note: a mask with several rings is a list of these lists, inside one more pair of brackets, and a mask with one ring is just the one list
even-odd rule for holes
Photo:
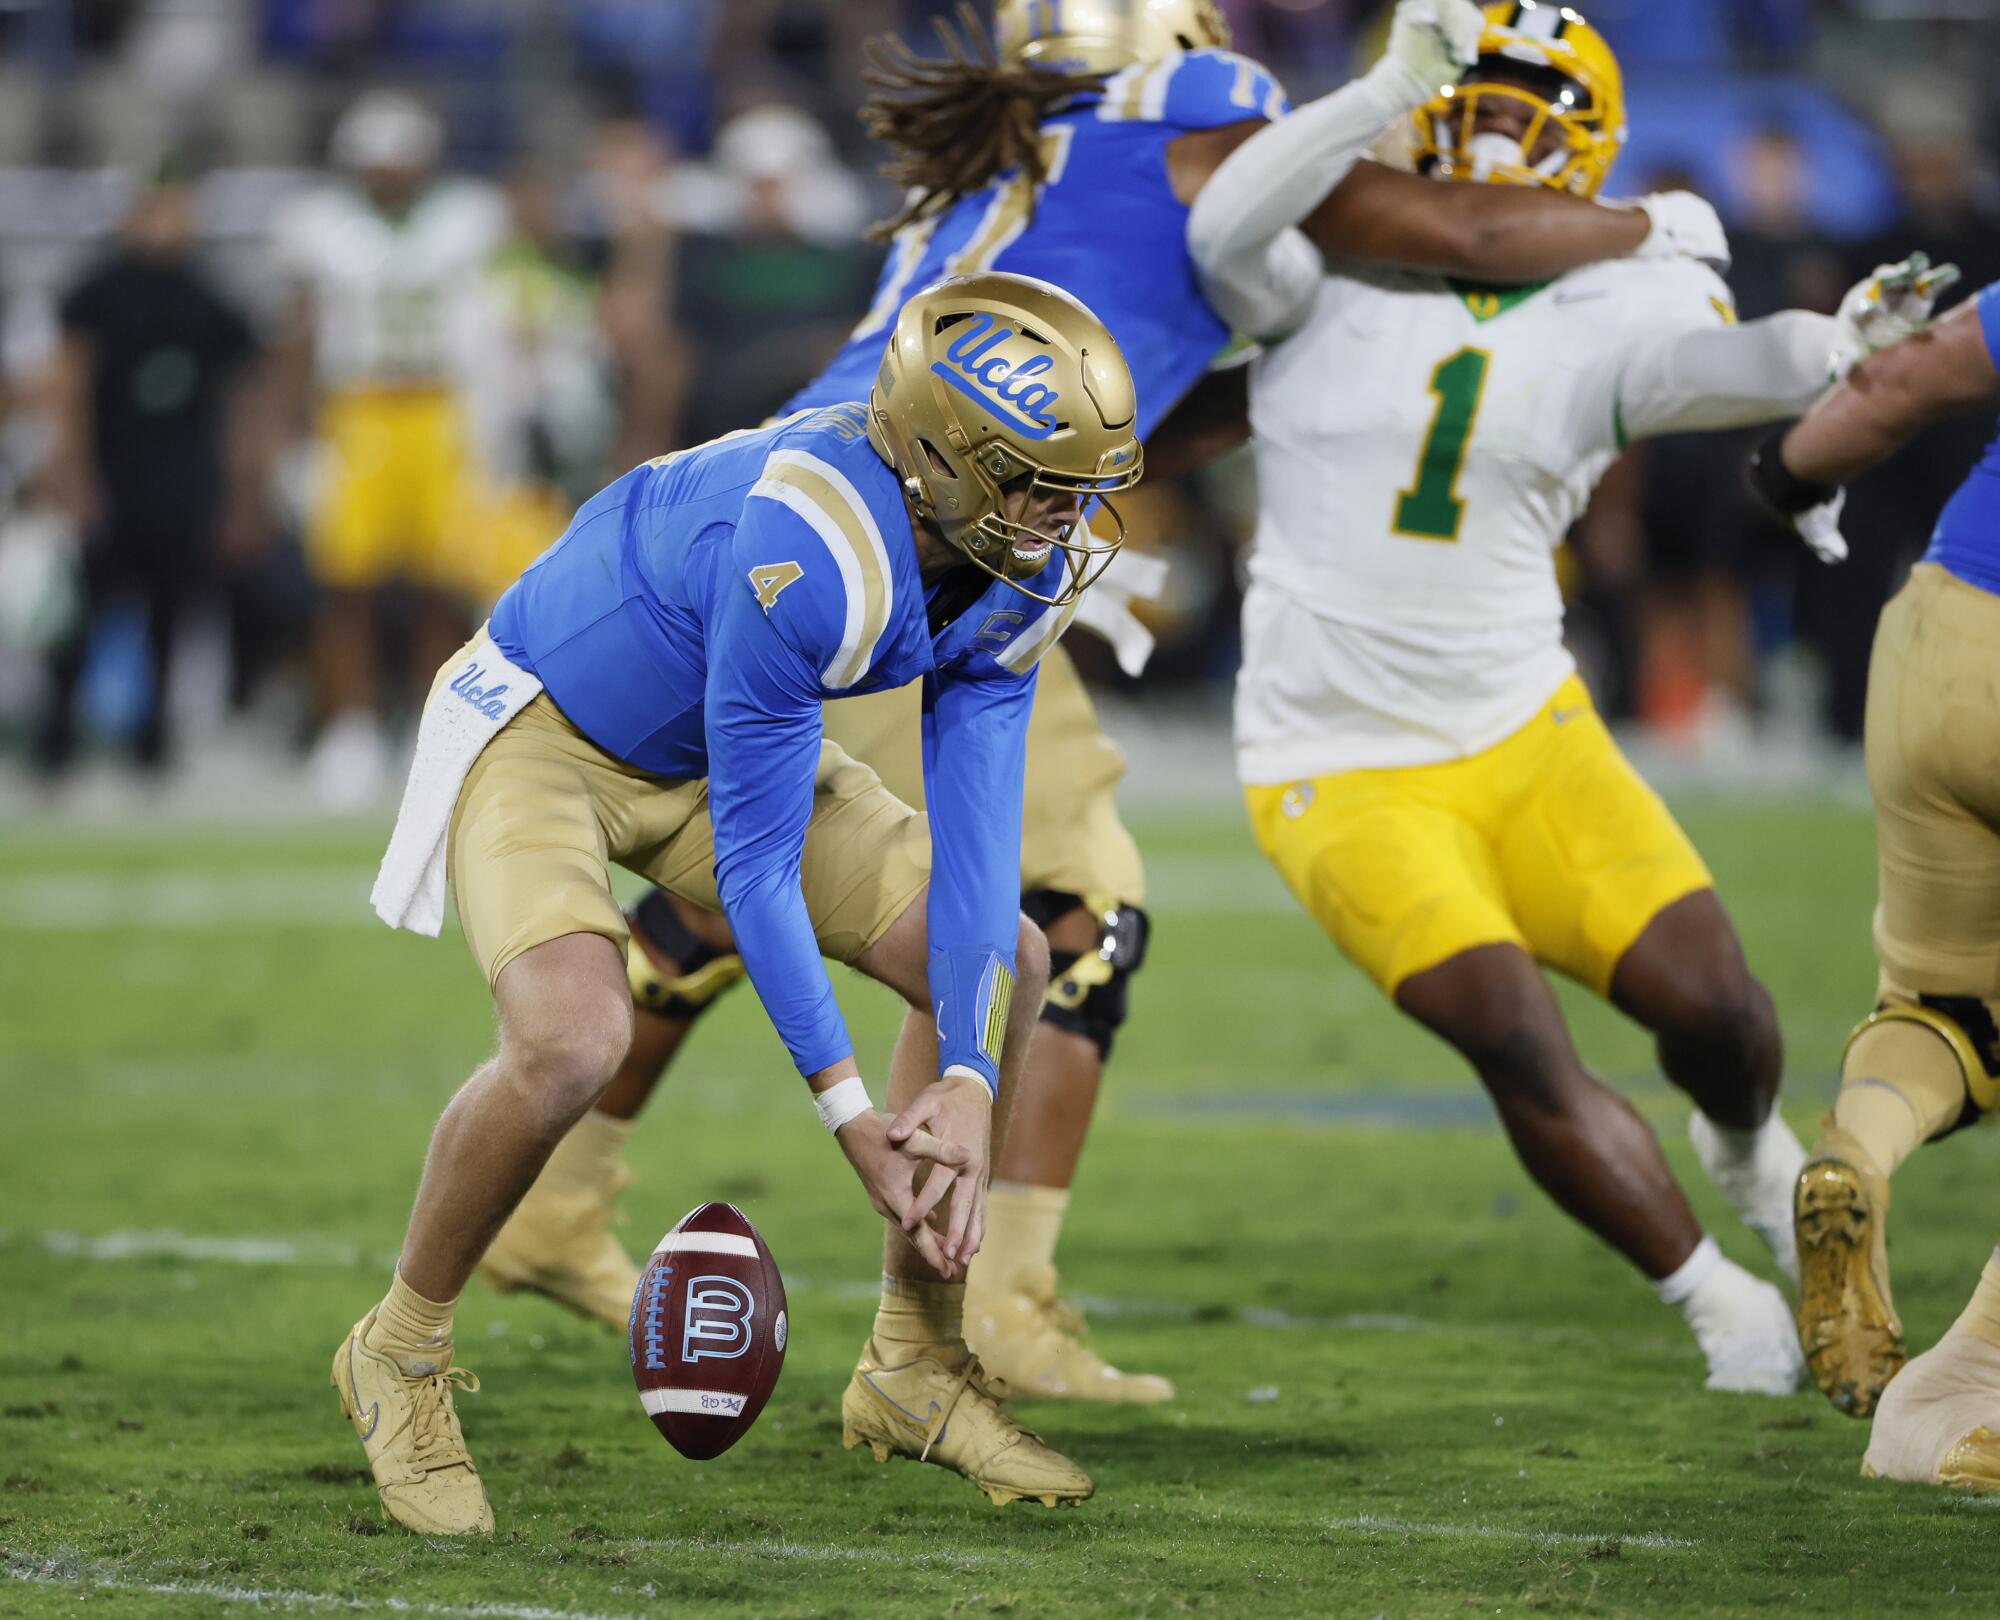
[[884,1366],[870,1338],[840,1398],[840,1444],[850,1452],[866,1444],[876,1462],[906,1456],[950,1468],[1002,1508],[1086,1500],[1096,1488],[1090,1476],[1022,1428],[988,1386],[978,1356],[960,1354],[956,1364],[926,1354]]

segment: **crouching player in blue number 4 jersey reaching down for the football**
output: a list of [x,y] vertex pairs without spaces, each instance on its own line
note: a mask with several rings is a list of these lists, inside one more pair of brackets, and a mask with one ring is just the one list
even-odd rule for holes
[[[442,890],[418,916],[410,852],[448,868],[500,1050],[438,1122],[388,1296],[334,1352],[392,1518],[492,1530],[452,1408],[478,1388],[452,1364],[452,1304],[630,1044],[610,862],[728,918],[888,1216],[844,1444],[958,1470],[996,1502],[1090,1494],[992,1396],[960,1308],[992,1112],[1046,984],[1018,870],[1036,664],[1122,540],[1084,510],[1136,482],[1136,414],[1116,342],[1074,298],[1026,276],[938,282],[902,308],[864,402],[626,474],[440,670],[376,904],[436,932]],[[828,698],[908,682],[928,838],[820,722]],[[910,1002],[886,1112],[822,954]]]

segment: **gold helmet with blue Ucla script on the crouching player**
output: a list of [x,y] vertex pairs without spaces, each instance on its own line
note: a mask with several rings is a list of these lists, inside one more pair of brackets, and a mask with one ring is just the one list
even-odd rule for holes
[[[902,306],[868,396],[868,438],[918,516],[996,580],[1068,606],[1124,544],[1088,512],[1034,526],[1052,500],[1088,506],[1138,482],[1138,394],[1090,310],[1032,276],[990,270],[934,282]],[[1054,596],[1024,584],[1064,552]]]

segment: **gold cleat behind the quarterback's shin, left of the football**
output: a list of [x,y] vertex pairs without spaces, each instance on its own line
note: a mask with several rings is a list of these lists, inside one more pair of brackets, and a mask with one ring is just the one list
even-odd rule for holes
[[[562,1154],[562,1148],[556,1150]],[[630,1176],[562,1176],[552,1158],[480,1258],[480,1280],[500,1294],[544,1294],[578,1316],[624,1332],[640,1268],[612,1234],[612,1200]]]

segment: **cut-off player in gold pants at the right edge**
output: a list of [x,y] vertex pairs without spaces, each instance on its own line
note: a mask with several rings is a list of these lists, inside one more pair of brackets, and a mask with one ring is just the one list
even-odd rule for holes
[[[1996,408],[2000,284],[1990,284],[1766,442],[1752,484],[1824,544],[1840,516],[1838,486],[1932,424]],[[1888,1210],[1890,1176],[1922,1142],[2000,1108],[2000,442],[1958,486],[1924,560],[1882,610],[1866,758],[1880,980],[1798,1178],[1798,1332],[1834,1406],[1874,1412],[1866,1472],[1992,1490],[2000,1254],[1964,1316],[1904,1366]]]

